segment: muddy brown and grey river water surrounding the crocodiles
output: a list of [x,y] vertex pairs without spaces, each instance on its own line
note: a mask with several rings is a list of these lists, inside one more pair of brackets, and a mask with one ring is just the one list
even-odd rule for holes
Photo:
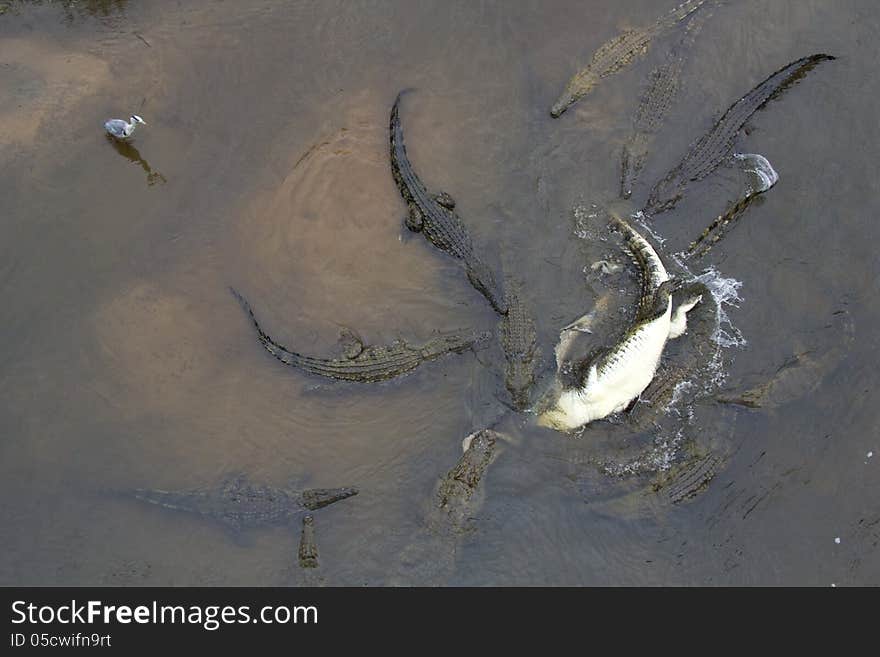
[[[733,448],[689,504],[593,504],[602,480],[583,453],[605,425],[573,439],[515,416],[454,566],[439,581],[404,571],[437,477],[498,415],[497,353],[375,387],[316,385],[262,351],[227,291],[306,352],[333,349],[344,326],[371,342],[494,329],[449,258],[403,234],[387,123],[413,87],[411,159],[522,282],[549,358],[600,291],[584,266],[607,253],[573,236],[572,209],[615,197],[669,42],[559,120],[549,105],[596,47],[665,8],[0,2],[0,583],[306,582],[298,523],[233,537],[108,493],[245,472],[361,489],[315,516],[332,585],[880,584],[874,3],[718,8],[633,196],[770,72],[839,57],[751,121],[738,149],[780,182],[707,258],[742,282],[728,311],[747,345],[725,352],[726,387],[803,352],[822,366],[774,407],[703,404],[699,430]],[[149,125],[116,147],[101,124],[132,112]],[[657,218],[664,248],[724,209],[723,183],[693,185]]]

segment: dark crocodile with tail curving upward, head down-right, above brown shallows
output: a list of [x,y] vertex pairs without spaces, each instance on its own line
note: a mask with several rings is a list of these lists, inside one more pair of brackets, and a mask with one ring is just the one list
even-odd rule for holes
[[409,161],[400,123],[400,100],[404,93],[401,91],[394,101],[390,125],[391,174],[407,205],[404,224],[413,232],[421,232],[435,247],[460,261],[471,285],[486,297],[495,312],[503,315],[507,312],[504,292],[456,214],[455,200],[446,192],[429,193]]

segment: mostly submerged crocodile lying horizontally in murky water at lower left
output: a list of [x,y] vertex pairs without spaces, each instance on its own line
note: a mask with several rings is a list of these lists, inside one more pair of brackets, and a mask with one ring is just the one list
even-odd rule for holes
[[219,488],[166,491],[137,489],[135,498],[176,511],[212,518],[233,530],[278,525],[358,494],[357,488],[274,488],[231,477]]

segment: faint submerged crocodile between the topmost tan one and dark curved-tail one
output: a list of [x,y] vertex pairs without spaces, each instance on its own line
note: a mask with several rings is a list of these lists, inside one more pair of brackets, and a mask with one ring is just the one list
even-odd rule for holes
[[648,150],[681,90],[681,73],[697,35],[710,14],[693,16],[681,40],[667,54],[666,61],[651,72],[647,90],[642,96],[633,121],[633,132],[623,146],[620,164],[620,197],[632,196],[633,187],[642,172]]

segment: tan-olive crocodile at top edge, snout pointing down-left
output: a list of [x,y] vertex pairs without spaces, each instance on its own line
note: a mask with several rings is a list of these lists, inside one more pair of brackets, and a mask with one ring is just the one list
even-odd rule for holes
[[565,110],[590,93],[600,80],[618,73],[642,57],[655,37],[675,27],[705,2],[706,0],[686,0],[651,25],[627,30],[605,42],[593,54],[587,67],[575,74],[565,85],[565,90],[550,108],[550,116],[558,119]]

